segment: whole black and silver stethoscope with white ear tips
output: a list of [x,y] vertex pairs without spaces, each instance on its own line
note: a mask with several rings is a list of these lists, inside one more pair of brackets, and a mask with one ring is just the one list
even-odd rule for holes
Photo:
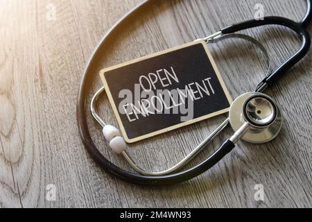
[[[89,155],[94,159],[94,161],[105,171],[111,173],[112,176],[116,176],[117,178],[121,178],[128,182],[135,183],[137,185],[173,185],[176,183],[184,182],[187,180],[191,180],[196,176],[204,173],[211,167],[213,167],[217,162],[219,162],[225,155],[230,153],[235,144],[239,142],[240,139],[243,139],[246,142],[250,142],[252,144],[263,144],[266,142],[270,142],[272,139],[277,137],[279,131],[281,130],[282,125],[282,116],[279,106],[275,101],[263,94],[264,90],[268,87],[272,86],[277,82],[283,74],[286,74],[289,69],[291,69],[297,62],[302,60],[306,53],[308,53],[311,38],[309,33],[306,31],[307,26],[311,22],[311,0],[306,0],[307,10],[304,19],[301,22],[294,22],[291,19],[286,19],[284,17],[264,17],[264,19],[256,20],[252,19],[246,22],[241,22],[239,24],[234,24],[232,26],[228,26],[226,28],[221,29],[218,33],[210,35],[206,37],[205,42],[216,42],[218,40],[222,40],[226,37],[239,37],[250,42],[253,42],[257,46],[260,47],[263,52],[266,63],[268,67],[268,74],[266,77],[261,80],[259,85],[257,85],[254,92],[248,92],[241,96],[239,96],[231,105],[229,111],[229,117],[223,121],[223,123],[214,130],[205,141],[202,142],[199,146],[197,146],[187,157],[184,157],[178,164],[176,164],[171,169],[167,169],[162,172],[148,172],[130,157],[130,155],[126,151],[126,144],[121,137],[119,130],[114,126],[107,125],[103,119],[96,113],[95,104],[98,97],[105,92],[105,88],[96,92],[91,101],[91,112],[92,116],[98,123],[103,127],[103,135],[107,142],[109,142],[110,147],[113,149],[115,153],[119,153],[125,157],[125,160],[131,165],[135,171],[139,174],[131,173],[125,171],[116,165],[112,164],[110,160],[107,160],[96,145],[92,141],[92,138],[89,134],[89,126],[87,124],[87,113],[86,110],[89,107],[87,103],[87,88],[89,86],[89,73],[92,69],[92,65],[95,62],[96,56],[98,56],[98,52],[101,49],[101,46],[105,44],[108,38],[116,31],[116,29],[121,26],[121,24],[128,22],[130,16],[135,12],[139,12],[139,10],[148,6],[152,3],[153,0],[143,1],[139,6],[128,12],[123,18],[116,22],[116,24],[107,32],[107,34],[103,37],[101,42],[94,49],[87,65],[85,66],[85,70],[83,72],[83,77],[80,84],[80,89],[78,93],[78,103],[77,103],[77,121],[80,137],[83,141],[85,148],[87,149]],[[248,28],[254,28],[257,26],[264,26],[269,24],[275,24],[280,26],[286,26],[295,31],[302,40],[302,45],[300,49],[293,55],[291,58],[288,58],[284,64],[278,67],[275,71],[270,71],[270,64],[268,59],[268,53],[264,49],[264,47],[257,40],[254,40],[252,37],[248,35],[238,34],[236,32],[242,31]],[[193,160],[203,148],[207,147],[207,145],[214,139],[217,135],[219,135],[228,125],[231,125],[234,130],[234,135],[227,139],[212,155],[210,155],[205,161],[196,165],[191,169],[186,171],[180,171],[182,167],[188,164],[191,160]]]

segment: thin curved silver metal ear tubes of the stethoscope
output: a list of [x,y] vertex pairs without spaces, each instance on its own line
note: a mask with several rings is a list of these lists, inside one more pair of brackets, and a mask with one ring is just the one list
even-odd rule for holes
[[[201,40],[205,40],[205,42],[208,44],[208,43],[218,42],[220,40],[224,40],[227,38],[240,38],[243,40],[248,40],[249,42],[252,42],[256,46],[258,46],[261,49],[264,57],[266,58],[266,69],[267,69],[266,76],[270,74],[270,58],[268,56],[268,52],[266,51],[266,48],[258,40],[254,39],[253,37],[250,37],[249,35],[243,35],[243,34],[238,34],[238,33],[223,35],[221,32],[218,32]],[[261,89],[257,90],[257,92],[262,92],[265,88],[266,88],[266,85],[261,87]],[[104,91],[105,91],[105,87],[102,87],[101,89],[99,89],[98,92],[94,94],[92,101],[91,101],[91,105],[90,105],[92,116],[103,128],[107,124],[98,115],[95,107],[96,107],[96,101],[98,100],[98,97]],[[125,157],[125,160],[128,161],[130,166],[133,169],[135,169],[135,171],[137,171],[138,173],[141,173],[142,175],[145,175],[145,176],[165,176],[165,175],[174,173],[175,171],[182,169],[182,167],[184,167],[186,164],[191,162],[191,160],[193,160],[196,157],[196,155],[198,155],[198,153],[200,153],[207,146],[207,144],[209,144],[216,136],[218,136],[227,127],[228,124],[229,124],[229,118],[225,119],[225,121],[223,121],[223,123],[221,123],[220,126],[218,126],[216,130],[214,130],[209,135],[209,137],[207,137],[201,144],[199,144],[196,148],[194,148],[193,151],[191,151],[189,155],[184,157],[183,160],[181,160],[180,162],[175,164],[173,167],[165,171],[159,171],[159,172],[146,171],[145,169],[142,169],[141,167],[139,167],[139,165],[135,162],[135,160],[132,159],[132,157],[130,157],[127,151],[123,151],[121,154],[123,155],[123,157]]]

